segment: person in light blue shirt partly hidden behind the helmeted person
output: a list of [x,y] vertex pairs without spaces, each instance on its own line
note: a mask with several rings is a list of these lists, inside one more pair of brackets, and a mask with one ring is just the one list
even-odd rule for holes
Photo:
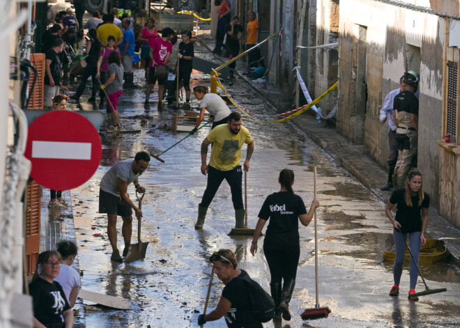
[[393,102],[394,97],[401,93],[404,89],[403,83],[404,75],[399,79],[399,88],[390,91],[383,101],[382,107],[380,109],[380,121],[385,123],[388,119],[388,146],[390,146],[390,155],[388,155],[387,165],[388,165],[388,180],[387,183],[382,187],[383,191],[390,190],[393,187],[393,174],[394,166],[396,165],[398,159],[398,144],[396,142],[396,125],[394,125],[393,120]]

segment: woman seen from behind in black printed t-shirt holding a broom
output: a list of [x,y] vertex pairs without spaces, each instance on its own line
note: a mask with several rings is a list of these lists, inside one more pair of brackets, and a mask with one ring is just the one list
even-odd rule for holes
[[[270,291],[275,301],[274,321],[291,320],[289,302],[296,283],[297,266],[300,256],[299,225],[308,226],[319,201],[314,199],[307,214],[305,205],[300,196],[294,194],[292,185],[294,173],[284,169],[279,173],[278,182],[281,185],[279,192],[266,198],[259,212],[254,237],[252,239],[251,253],[257,251],[257,240],[266,221],[270,219],[263,240],[263,253],[270,268]],[[282,280],[284,281],[281,287]]]

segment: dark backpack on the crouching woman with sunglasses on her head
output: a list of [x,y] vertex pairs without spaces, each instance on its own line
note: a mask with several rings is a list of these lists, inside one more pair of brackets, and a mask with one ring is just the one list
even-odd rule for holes
[[259,283],[252,280],[249,276],[244,276],[238,279],[245,281],[247,286],[251,304],[251,313],[260,320],[260,322],[268,322],[272,320],[273,315],[275,315],[275,302],[273,301],[273,297],[268,295],[268,292],[263,290]]

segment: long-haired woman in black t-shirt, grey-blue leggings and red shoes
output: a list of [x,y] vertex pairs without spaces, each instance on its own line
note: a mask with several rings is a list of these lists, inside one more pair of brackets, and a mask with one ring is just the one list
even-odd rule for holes
[[[393,217],[391,212],[394,205],[397,205],[398,208],[396,217]],[[411,251],[418,265],[420,246],[427,242],[424,233],[428,223],[428,208],[429,195],[423,192],[422,173],[418,169],[412,169],[406,180],[406,187],[395,190],[385,208],[385,214],[387,214],[394,227],[394,286],[390,290],[390,296],[399,295],[399,281],[401,280],[404,265],[407,235],[409,235]],[[409,276],[411,278],[411,288],[408,299],[418,301],[418,297],[413,296],[415,294],[415,285],[417,284],[418,270],[412,257]]]

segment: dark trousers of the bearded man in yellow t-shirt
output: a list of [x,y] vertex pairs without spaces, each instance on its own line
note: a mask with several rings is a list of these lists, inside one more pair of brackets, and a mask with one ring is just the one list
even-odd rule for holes
[[235,166],[230,171],[220,171],[213,166],[208,166],[208,185],[203,194],[203,199],[199,204],[201,207],[208,208],[211,201],[219,189],[222,180],[227,180],[231,190],[231,201],[233,201],[233,208],[235,210],[243,210],[243,190],[242,190],[242,177],[241,165]]

